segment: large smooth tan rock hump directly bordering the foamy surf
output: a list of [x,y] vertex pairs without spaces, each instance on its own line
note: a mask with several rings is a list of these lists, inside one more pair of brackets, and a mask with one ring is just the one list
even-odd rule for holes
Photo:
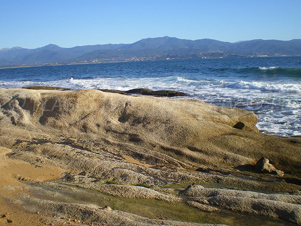
[[[193,99],[120,95],[99,90],[0,89],[0,105],[2,133],[11,137],[0,136],[3,145],[14,139],[26,140],[26,134],[44,131],[87,141],[105,139],[109,141],[105,143],[107,148],[113,148],[117,142],[116,150],[122,149],[124,154],[135,155],[150,165],[232,169],[253,164],[264,154],[280,170],[301,173],[297,167],[301,164],[298,143],[254,133],[257,117],[242,109]],[[238,122],[251,131],[233,128]],[[23,132],[17,135],[20,130]],[[33,136],[36,135],[28,139]]]

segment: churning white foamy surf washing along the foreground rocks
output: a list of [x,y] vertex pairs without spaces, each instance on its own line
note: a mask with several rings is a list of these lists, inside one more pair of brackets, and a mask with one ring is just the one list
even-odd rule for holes
[[277,135],[301,135],[300,82],[229,81],[220,79],[193,80],[183,76],[169,77],[112,77],[57,81],[0,81],[0,87],[24,87],[32,85],[60,86],[74,89],[132,88],[174,89],[220,106],[240,107],[256,111],[260,130]]

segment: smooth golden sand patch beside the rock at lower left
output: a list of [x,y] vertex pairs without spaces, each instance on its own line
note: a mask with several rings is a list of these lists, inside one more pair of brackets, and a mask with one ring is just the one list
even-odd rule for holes
[[8,148],[0,147],[0,224],[38,225],[39,214],[28,212],[8,199],[29,193],[27,185],[20,180],[56,180],[63,171],[53,166],[37,168],[24,161],[10,159],[6,157],[10,152]]

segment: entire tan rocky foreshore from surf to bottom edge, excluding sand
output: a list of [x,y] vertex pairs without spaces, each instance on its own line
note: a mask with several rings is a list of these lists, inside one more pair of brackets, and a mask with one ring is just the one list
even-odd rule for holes
[[[258,133],[257,117],[246,110],[195,99],[19,88],[0,89],[0,104],[7,164],[62,172],[50,181],[18,172],[18,184],[6,188],[26,184],[30,195],[18,191],[6,200],[39,212],[44,222],[301,223],[301,138]],[[263,156],[284,176],[255,171]]]

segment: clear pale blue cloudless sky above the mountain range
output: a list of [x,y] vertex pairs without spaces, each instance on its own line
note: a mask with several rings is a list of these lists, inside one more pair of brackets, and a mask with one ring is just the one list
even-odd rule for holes
[[301,38],[301,0],[0,0],[0,49]]

